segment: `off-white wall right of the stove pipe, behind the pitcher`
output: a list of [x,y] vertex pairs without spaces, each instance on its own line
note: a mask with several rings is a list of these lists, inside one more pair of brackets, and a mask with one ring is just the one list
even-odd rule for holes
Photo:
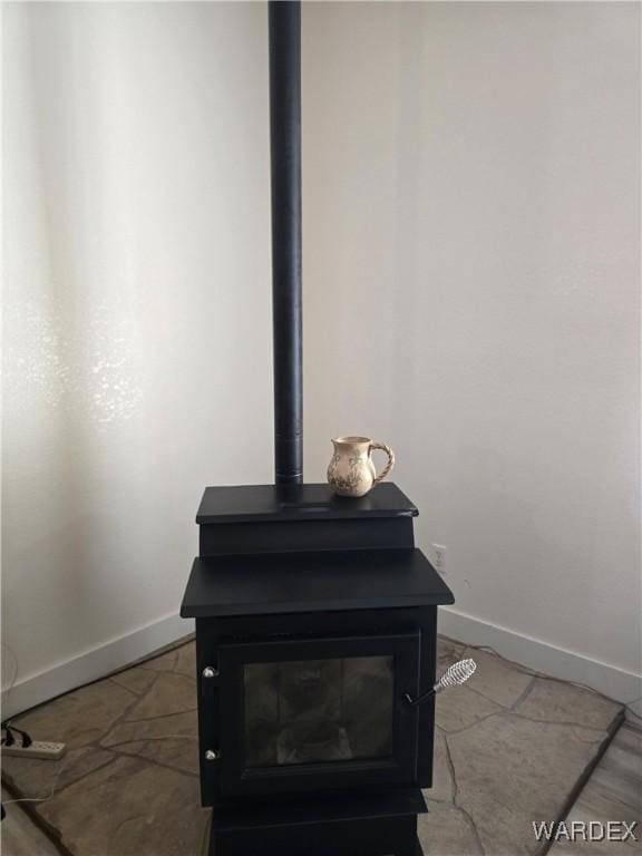
[[312,3],[303,91],[308,473],[391,442],[457,611],[638,673],[639,25]]

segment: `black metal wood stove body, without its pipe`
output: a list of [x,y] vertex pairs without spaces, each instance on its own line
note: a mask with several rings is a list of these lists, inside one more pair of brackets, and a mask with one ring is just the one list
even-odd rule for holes
[[437,607],[393,485],[207,488],[196,620],[211,856],[416,856],[432,779]]

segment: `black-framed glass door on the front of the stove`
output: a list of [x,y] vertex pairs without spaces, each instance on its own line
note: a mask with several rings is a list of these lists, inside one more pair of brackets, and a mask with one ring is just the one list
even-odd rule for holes
[[411,784],[419,633],[222,645],[224,792]]

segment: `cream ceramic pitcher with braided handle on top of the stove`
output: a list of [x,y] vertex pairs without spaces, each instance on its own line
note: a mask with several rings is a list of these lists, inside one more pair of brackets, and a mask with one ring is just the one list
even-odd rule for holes
[[[332,442],[334,455],[328,467],[328,483],[339,496],[364,496],[395,466],[395,453],[385,442],[376,442],[369,437],[338,437]],[[372,463],[374,449],[388,455],[388,464],[379,476]]]

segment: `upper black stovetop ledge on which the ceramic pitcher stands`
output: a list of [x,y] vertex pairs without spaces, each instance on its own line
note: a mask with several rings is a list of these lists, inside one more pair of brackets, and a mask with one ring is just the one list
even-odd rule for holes
[[416,517],[418,514],[417,507],[392,481],[377,485],[359,499],[337,496],[328,485],[321,484],[239,485],[206,487],[196,523]]

